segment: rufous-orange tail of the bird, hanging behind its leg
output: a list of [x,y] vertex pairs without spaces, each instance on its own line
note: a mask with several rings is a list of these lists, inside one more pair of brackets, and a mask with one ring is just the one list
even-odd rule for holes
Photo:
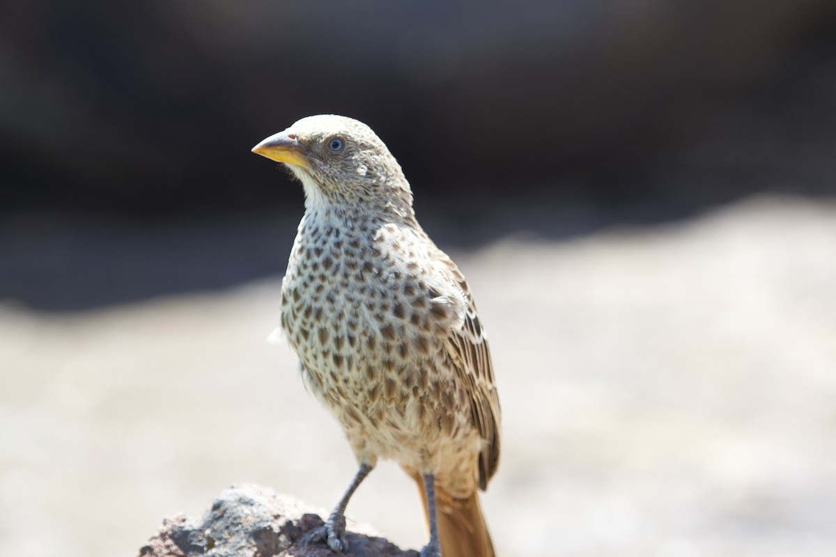
[[[424,482],[418,473],[410,473],[424,504],[424,516],[429,524],[426,509]],[[436,522],[441,542],[441,557],[494,557],[491,534],[487,531],[485,517],[479,506],[476,490],[466,499],[456,499],[444,486],[436,483]]]

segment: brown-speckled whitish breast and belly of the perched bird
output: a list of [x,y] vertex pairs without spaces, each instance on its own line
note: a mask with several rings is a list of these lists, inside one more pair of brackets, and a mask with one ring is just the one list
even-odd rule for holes
[[418,266],[421,254],[393,241],[399,234],[393,225],[347,231],[303,220],[288,262],[283,328],[309,387],[347,428],[414,428],[433,410],[426,395],[453,379],[434,362],[455,307]]

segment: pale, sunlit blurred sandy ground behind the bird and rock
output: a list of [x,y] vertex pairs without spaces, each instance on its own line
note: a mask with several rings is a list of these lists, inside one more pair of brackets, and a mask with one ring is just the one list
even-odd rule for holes
[[[836,552],[836,205],[454,252],[492,338],[502,555]],[[0,305],[0,554],[135,555],[256,482],[329,508],[339,428],[270,345],[279,277],[95,311]],[[349,514],[424,541],[385,463]]]

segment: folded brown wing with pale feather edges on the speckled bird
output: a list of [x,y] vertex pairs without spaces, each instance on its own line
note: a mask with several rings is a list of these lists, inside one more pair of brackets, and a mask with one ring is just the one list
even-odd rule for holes
[[446,348],[461,385],[466,387],[470,395],[473,424],[485,440],[482,452],[479,453],[479,487],[485,489],[499,463],[500,409],[491,352],[479,322],[470,286],[449,257],[444,256],[442,261],[446,261],[450,278],[456,281],[456,286],[464,293],[467,302],[463,323],[447,337]]

